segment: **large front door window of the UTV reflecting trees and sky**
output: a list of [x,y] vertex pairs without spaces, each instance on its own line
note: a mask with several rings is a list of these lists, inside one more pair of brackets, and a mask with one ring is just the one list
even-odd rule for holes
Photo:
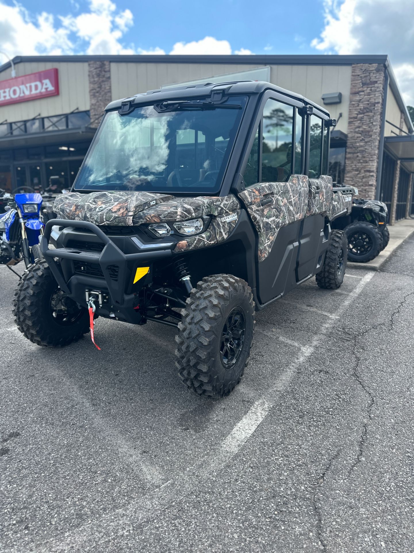
[[262,182],[283,182],[291,175],[293,109],[272,99],[264,106]]

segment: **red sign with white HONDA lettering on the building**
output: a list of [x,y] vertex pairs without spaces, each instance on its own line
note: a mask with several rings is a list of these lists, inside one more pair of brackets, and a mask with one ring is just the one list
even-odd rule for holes
[[59,94],[57,69],[46,69],[0,81],[0,107]]

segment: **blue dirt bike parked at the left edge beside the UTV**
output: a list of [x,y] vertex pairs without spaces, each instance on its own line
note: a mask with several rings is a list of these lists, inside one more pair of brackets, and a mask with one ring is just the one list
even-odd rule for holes
[[[0,264],[12,265],[24,261],[29,267],[41,258],[39,236],[43,234],[40,194],[0,195]],[[14,272],[14,271],[13,271]]]

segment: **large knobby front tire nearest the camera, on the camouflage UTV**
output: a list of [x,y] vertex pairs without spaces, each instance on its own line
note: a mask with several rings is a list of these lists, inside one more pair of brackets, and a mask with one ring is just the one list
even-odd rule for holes
[[207,276],[186,303],[176,336],[178,375],[197,394],[224,397],[240,382],[250,356],[252,290],[236,276]]

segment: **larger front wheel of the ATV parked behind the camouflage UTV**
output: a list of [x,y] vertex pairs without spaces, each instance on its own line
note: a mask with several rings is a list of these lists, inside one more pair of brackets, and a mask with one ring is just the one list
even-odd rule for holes
[[348,261],[366,263],[383,249],[383,235],[367,221],[354,221],[345,228],[348,237]]

